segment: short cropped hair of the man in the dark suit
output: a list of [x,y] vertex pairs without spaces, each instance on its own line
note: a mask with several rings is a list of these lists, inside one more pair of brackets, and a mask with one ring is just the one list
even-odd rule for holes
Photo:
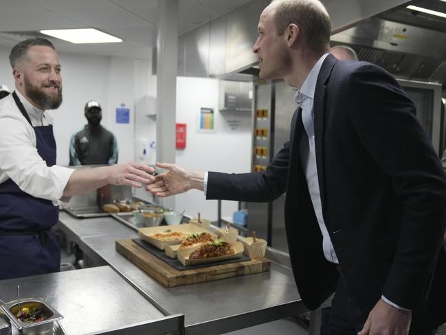
[[291,23],[296,24],[306,38],[306,45],[315,52],[330,47],[331,21],[324,5],[318,0],[272,0],[277,3],[274,23],[282,35]]

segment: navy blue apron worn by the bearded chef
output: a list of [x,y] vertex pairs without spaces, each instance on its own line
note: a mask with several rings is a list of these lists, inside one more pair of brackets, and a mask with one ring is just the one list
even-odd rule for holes
[[[15,91],[12,96],[32,127]],[[52,125],[33,128],[38,155],[47,166],[53,166],[56,141]],[[59,271],[60,248],[51,230],[58,221],[58,213],[58,207],[50,200],[21,191],[11,179],[0,184],[0,279]]]

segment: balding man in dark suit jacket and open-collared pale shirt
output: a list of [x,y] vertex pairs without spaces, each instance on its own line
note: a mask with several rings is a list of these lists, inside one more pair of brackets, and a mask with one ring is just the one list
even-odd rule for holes
[[258,32],[260,77],[299,89],[289,142],[258,173],[158,164],[168,172],[148,190],[246,202],[286,192],[300,296],[315,309],[335,292],[326,334],[434,334],[446,321],[446,177],[412,100],[383,69],[328,54],[317,0],[272,2]]

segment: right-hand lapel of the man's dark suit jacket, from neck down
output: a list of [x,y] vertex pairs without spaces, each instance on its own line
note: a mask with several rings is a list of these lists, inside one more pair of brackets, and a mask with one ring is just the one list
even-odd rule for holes
[[324,63],[317,76],[316,89],[314,92],[314,131],[315,131],[315,150],[317,180],[319,181],[320,199],[322,212],[325,208],[325,164],[324,164],[324,131],[325,131],[325,96],[326,81],[330,77],[331,70],[337,62],[337,59],[330,54],[325,58]]

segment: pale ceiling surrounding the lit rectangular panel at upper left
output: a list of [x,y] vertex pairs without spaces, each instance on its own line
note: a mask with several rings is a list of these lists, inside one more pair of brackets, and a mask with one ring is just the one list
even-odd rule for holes
[[[178,34],[251,0],[179,0]],[[43,29],[96,28],[122,43],[72,44],[50,39],[59,52],[151,58],[158,0],[2,0],[0,46],[12,47]]]

